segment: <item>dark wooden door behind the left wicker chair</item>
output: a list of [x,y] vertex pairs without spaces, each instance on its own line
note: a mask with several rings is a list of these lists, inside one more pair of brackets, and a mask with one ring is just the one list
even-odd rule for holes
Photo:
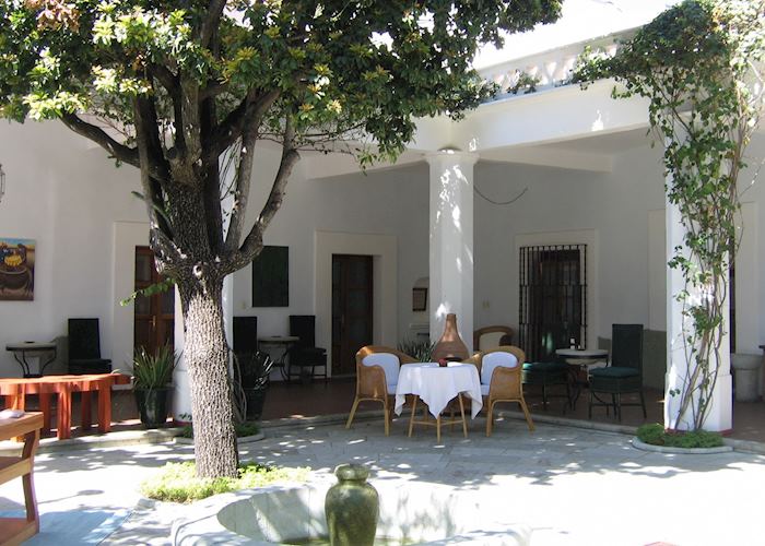
[[356,352],[372,344],[372,257],[332,256],[332,376],[356,372]]

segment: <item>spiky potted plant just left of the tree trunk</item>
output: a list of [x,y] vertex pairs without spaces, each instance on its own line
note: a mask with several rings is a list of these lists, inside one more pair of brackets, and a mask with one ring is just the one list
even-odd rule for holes
[[141,347],[133,357],[136,405],[145,428],[156,428],[167,420],[173,370],[178,363],[173,348],[165,344],[150,354]]

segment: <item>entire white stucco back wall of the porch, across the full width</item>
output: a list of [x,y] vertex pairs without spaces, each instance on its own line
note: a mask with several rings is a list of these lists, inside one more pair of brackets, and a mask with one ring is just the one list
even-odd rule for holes
[[[120,287],[125,283],[118,281],[130,278],[132,271],[122,271],[131,266],[130,261],[125,260],[126,249],[115,248],[115,241],[119,240],[117,234],[127,229],[133,245],[145,223],[143,204],[130,195],[138,189],[136,169],[115,169],[101,149],[56,123],[1,124],[0,142],[0,162],[7,173],[0,236],[32,238],[37,244],[35,300],[0,301],[0,347],[63,335],[69,317],[98,317],[102,352],[115,359],[115,367],[122,367],[132,337],[131,331],[126,332],[131,322],[126,311],[115,306],[127,296]],[[259,212],[268,190],[259,182],[271,179],[279,158],[273,150],[258,154],[251,217]],[[761,161],[756,158],[765,156],[763,135],[755,139],[750,155],[755,159],[744,177],[752,177]],[[651,244],[663,237],[662,228],[656,225],[663,218],[664,205],[660,151],[637,147],[614,156],[612,164],[611,173],[590,173],[479,162],[475,185],[486,195],[504,201],[525,188],[528,191],[506,206],[475,197],[476,328],[517,327],[517,236],[581,230],[593,230],[598,240],[598,321],[593,334],[610,336],[613,322],[662,325],[661,311],[654,310],[663,308],[663,295],[649,289],[650,280],[660,278],[660,268],[666,264],[663,247]],[[282,210],[264,238],[267,245],[290,247],[290,307],[250,307],[251,271],[246,268],[234,275],[234,313],[257,314],[260,335],[285,334],[289,314],[320,313],[315,307],[317,232],[389,236],[397,242],[398,331],[387,333],[386,341],[400,340],[410,323],[422,321],[423,316],[411,311],[411,288],[428,275],[427,165],[422,162],[321,180],[306,179],[311,173],[304,168],[298,164]],[[763,286],[765,237],[758,236],[765,223],[762,180],[743,200],[751,203],[748,206],[760,226],[748,247],[756,265],[750,285]],[[750,316],[756,318],[748,334],[754,343],[746,342],[746,349],[751,346],[756,351],[757,344],[765,343],[765,321],[758,320],[765,310],[765,289],[740,293],[740,313],[742,306],[749,306]],[[318,341],[325,346],[329,343]],[[0,351],[0,375],[19,372],[11,355]]]

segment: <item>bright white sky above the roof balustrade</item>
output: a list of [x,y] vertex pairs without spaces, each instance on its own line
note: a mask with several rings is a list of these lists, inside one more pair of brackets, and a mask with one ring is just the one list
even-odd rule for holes
[[566,44],[640,26],[676,3],[680,0],[564,0],[563,16],[556,23],[508,36],[499,51],[493,46],[485,46],[475,57],[473,67],[480,70]]

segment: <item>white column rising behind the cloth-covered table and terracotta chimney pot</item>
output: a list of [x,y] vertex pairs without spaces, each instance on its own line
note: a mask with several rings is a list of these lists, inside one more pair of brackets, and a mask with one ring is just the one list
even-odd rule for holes
[[473,166],[479,156],[452,150],[426,156],[431,166],[431,340],[457,314],[460,337],[473,341]]

